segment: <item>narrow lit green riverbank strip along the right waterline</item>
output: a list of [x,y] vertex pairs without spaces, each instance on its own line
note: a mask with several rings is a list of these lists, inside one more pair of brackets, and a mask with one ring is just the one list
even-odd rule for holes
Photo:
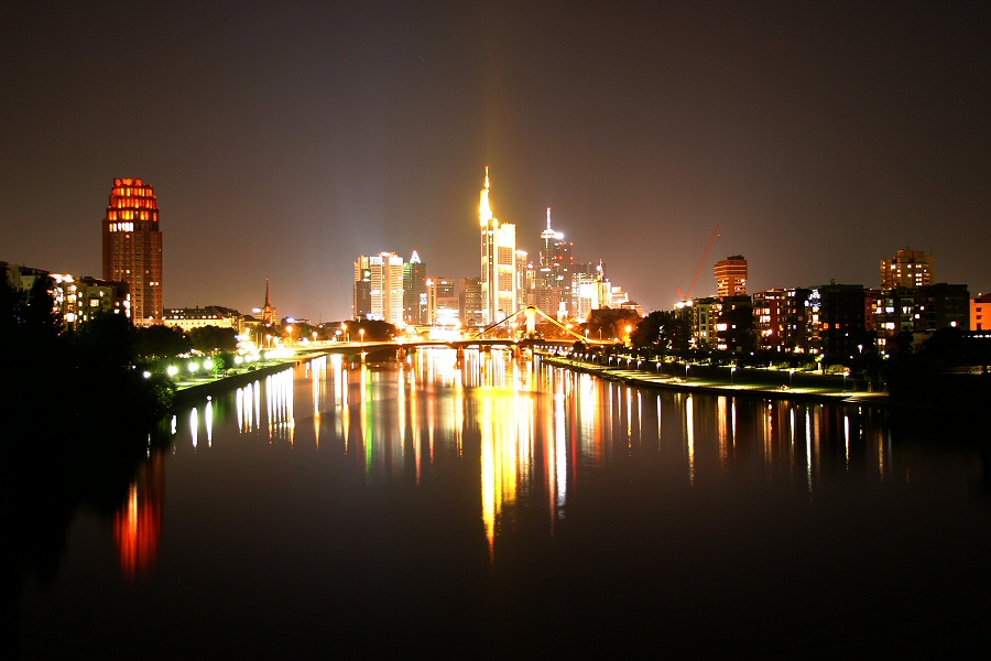
[[[731,394],[733,397],[759,397],[761,399],[793,400],[793,401],[819,401],[819,402],[850,402],[858,404],[887,404],[889,395],[886,392],[868,392],[852,390],[853,382],[850,380],[847,388],[845,383],[840,388],[836,388],[834,379],[816,376],[819,382],[815,383],[809,378],[799,379],[798,386],[771,384],[763,379],[762,382],[754,382],[754,379],[748,378],[748,372],[752,370],[734,370],[730,372],[729,379],[719,378],[711,373],[715,370],[705,370],[705,376],[696,376],[700,371],[696,368],[695,375],[691,375],[691,367],[686,370],[685,377],[672,376],[666,373],[656,373],[640,369],[632,369],[629,366],[621,368],[619,366],[598,365],[587,360],[578,360],[563,356],[542,355],[541,359],[548,365],[556,365],[576,371],[595,375],[601,379],[610,381],[621,381],[631,386],[646,388],[666,388],[671,390],[680,390],[686,392],[707,392],[712,394]],[[787,375],[787,372],[784,372]],[[752,377],[752,375],[750,375]],[[803,375],[805,377],[805,375]]]

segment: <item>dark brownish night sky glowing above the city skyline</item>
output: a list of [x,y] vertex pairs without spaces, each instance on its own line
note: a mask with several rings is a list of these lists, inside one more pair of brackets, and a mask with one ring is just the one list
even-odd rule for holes
[[991,11],[971,2],[12,2],[0,260],[99,277],[115,177],[155,186],[166,306],[350,314],[359,254],[478,275],[478,191],[546,207],[647,310],[880,284],[991,291]]

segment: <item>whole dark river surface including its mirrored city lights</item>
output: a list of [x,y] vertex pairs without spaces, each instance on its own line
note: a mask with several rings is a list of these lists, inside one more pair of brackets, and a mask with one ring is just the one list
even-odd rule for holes
[[[164,423],[26,573],[34,659],[987,652],[967,425],[494,351],[325,357]],[[983,441],[987,441],[984,435]]]

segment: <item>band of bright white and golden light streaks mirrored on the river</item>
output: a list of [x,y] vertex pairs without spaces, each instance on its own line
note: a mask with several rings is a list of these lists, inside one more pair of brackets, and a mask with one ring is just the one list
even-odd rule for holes
[[[228,424],[242,438],[291,448],[302,441],[353,460],[368,484],[407,476],[423,484],[442,455],[477,462],[491,559],[521,507],[543,508],[553,535],[582,475],[635,475],[658,465],[657,479],[673,487],[709,488],[726,475],[753,474],[801,481],[812,495],[824,470],[868,469],[883,481],[891,464],[890,433],[875,412],[651,392],[499,349],[418,350],[386,362],[324,356],[238,388],[230,399],[232,420],[222,402],[206,400],[190,408],[188,430],[176,430],[173,420],[173,434],[186,435],[198,453],[213,448],[215,437],[230,443],[217,432]],[[300,411],[312,424],[297,429]],[[824,446],[832,438],[838,445]]]

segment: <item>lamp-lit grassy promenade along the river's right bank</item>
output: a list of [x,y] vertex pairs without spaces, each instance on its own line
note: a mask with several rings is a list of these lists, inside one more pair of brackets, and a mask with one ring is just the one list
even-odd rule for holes
[[[595,375],[601,379],[620,381],[631,386],[645,388],[665,388],[685,392],[706,392],[731,397],[755,397],[761,399],[849,402],[868,405],[889,403],[886,392],[869,392],[854,390],[854,381],[841,375],[819,375],[814,372],[793,372],[787,370],[764,370],[756,368],[711,368],[699,369],[689,365],[686,376],[662,373],[654,361],[617,359],[617,365],[600,365],[590,360],[554,355],[542,355],[541,359],[558,367]],[[624,365],[625,364],[625,365]],[[674,365],[664,365],[671,369]],[[678,368],[680,369],[680,368]],[[693,373],[693,370],[694,373]],[[725,371],[723,377],[720,371]],[[774,383],[775,379],[794,381],[795,386]]]

